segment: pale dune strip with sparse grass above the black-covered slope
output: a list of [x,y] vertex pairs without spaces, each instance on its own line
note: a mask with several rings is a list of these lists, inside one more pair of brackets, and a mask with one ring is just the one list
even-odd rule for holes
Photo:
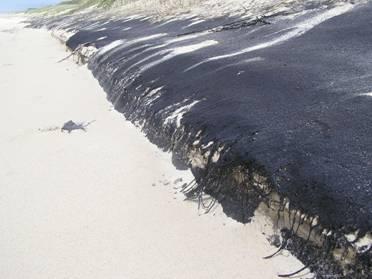
[[142,14],[155,20],[180,14],[206,18],[226,15],[254,18],[278,13],[291,14],[306,8],[332,7],[345,2],[352,0],[66,0],[54,6],[29,10],[28,13],[54,16],[100,10],[102,13]]

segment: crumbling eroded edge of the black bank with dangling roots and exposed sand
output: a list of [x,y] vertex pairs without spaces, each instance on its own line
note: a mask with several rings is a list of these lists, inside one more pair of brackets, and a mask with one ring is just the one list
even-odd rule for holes
[[[141,98],[131,98],[129,92],[125,97],[112,92],[112,87],[102,78],[108,77],[109,73],[105,75],[105,69],[98,69],[100,65],[95,65],[94,59],[91,62],[82,52],[76,56],[78,63],[88,63],[116,110],[140,126],[152,143],[171,151],[174,162],[190,167],[195,180],[184,186],[183,192],[188,199],[197,200],[206,212],[218,201],[229,217],[242,223],[249,222],[254,212],[261,208],[271,215],[274,228],[281,234],[280,249],[294,254],[316,278],[371,278],[372,246],[356,245],[363,238],[371,238],[371,232],[358,228],[331,228],[321,223],[318,216],[307,215],[299,205],[279,194],[262,166],[231,156],[235,141],[203,146],[203,131],[184,125],[164,125],[165,116],[148,111],[141,104]],[[136,76],[131,78],[136,79]],[[214,200],[205,204],[204,193]],[[348,234],[353,235],[352,239],[347,237]]]

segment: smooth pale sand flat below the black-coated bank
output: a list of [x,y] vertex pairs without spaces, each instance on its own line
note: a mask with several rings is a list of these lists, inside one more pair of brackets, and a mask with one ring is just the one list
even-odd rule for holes
[[[0,18],[0,278],[276,278],[258,219],[183,202],[170,155],[112,111],[46,31]],[[95,120],[87,132],[54,130]],[[41,129],[41,130],[40,130]],[[51,130],[51,131],[49,131]],[[306,278],[306,277],[304,277]]]

